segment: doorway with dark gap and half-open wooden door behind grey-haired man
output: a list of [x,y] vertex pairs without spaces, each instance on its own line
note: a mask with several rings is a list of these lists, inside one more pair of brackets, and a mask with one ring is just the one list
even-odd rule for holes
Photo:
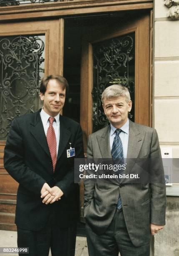
[[[129,88],[129,118],[150,125],[150,12],[128,11],[65,19],[63,75],[70,92],[63,108],[81,123],[86,154],[90,133],[108,125],[101,94],[111,84]],[[83,221],[83,184],[80,192]]]

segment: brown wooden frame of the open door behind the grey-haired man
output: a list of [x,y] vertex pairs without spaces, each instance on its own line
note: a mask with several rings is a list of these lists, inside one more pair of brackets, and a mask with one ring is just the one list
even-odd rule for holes
[[[135,122],[151,125],[151,14],[131,18],[127,23],[101,27],[95,33],[86,35],[82,41],[81,58],[81,126],[84,138],[92,133],[92,90],[93,90],[93,44],[112,37],[135,32]],[[106,32],[107,31],[107,32]],[[109,32],[110,31],[110,32]],[[101,36],[100,36],[101,35]],[[96,38],[94,40],[94,38]],[[147,38],[147,39],[146,39]],[[146,54],[145,54],[146,53]],[[144,93],[145,91],[145,93]],[[87,139],[84,140],[87,148]]]

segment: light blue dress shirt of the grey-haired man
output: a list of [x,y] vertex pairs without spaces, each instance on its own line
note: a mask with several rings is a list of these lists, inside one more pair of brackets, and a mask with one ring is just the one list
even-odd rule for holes
[[[128,141],[129,141],[129,119],[127,119],[127,122],[120,129],[122,131],[119,133],[119,137],[121,138],[121,141],[122,141],[124,159],[126,159],[127,158]],[[115,131],[116,131],[116,128],[113,127],[113,125],[111,125],[111,130],[110,130],[110,134],[109,134],[111,149],[113,146],[114,137],[116,136]]]

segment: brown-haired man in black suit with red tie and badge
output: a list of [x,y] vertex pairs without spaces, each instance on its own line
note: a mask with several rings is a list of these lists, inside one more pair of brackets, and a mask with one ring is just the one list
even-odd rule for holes
[[29,255],[74,256],[78,185],[74,158],[83,157],[78,123],[60,115],[68,82],[59,75],[40,84],[43,108],[15,118],[5,146],[4,166],[19,182],[15,223],[18,247]]

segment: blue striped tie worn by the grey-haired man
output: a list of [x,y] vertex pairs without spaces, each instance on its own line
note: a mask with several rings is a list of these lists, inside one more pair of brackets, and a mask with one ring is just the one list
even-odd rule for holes
[[[115,160],[114,162],[117,163],[116,164],[124,164],[124,154],[123,154],[123,147],[122,147],[122,141],[121,138],[119,137],[119,133],[121,132],[121,129],[116,129],[115,133],[116,136],[114,137],[113,140],[113,146],[111,149],[111,155],[113,160]],[[121,196],[119,195],[118,198],[118,205],[117,205],[117,209],[120,210],[122,208],[122,202],[121,202]]]

